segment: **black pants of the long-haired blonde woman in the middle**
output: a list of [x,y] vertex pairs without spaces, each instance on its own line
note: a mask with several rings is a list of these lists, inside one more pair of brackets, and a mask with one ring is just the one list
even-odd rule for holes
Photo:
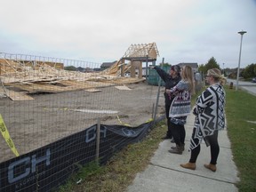
[[172,136],[176,143],[176,145],[181,146],[185,142],[186,132],[184,125],[181,124],[173,124],[170,123],[172,126]]

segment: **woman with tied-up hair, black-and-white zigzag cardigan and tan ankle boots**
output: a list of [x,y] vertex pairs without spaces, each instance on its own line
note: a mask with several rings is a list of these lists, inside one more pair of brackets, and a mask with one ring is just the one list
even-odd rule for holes
[[217,159],[220,153],[218,131],[225,127],[225,99],[223,85],[226,83],[220,69],[209,69],[206,81],[210,86],[196,100],[193,114],[196,116],[194,130],[190,140],[191,156],[187,164],[180,164],[186,169],[196,169],[196,158],[200,153],[200,143],[204,139],[206,146],[211,146],[210,164],[204,167],[216,172]]

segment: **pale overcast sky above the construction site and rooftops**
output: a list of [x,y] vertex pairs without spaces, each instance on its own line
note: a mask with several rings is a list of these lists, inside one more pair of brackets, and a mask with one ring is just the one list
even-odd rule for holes
[[[0,0],[0,52],[109,62],[156,43],[156,63],[256,63],[256,0]],[[223,65],[224,63],[224,65]]]

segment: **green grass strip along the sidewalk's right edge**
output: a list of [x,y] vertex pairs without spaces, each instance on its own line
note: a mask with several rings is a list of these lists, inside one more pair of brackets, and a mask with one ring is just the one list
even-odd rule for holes
[[256,97],[226,89],[228,137],[239,171],[239,192],[256,191]]

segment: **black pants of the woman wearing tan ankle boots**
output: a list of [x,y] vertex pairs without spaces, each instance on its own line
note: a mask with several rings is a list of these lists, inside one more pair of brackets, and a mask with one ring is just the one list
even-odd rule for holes
[[[196,129],[193,130],[192,137],[194,137],[195,133],[196,133]],[[220,153],[220,146],[218,143],[218,131],[215,131],[213,133],[213,135],[211,135],[211,136],[205,137],[204,140],[210,144],[210,148],[211,148],[210,164],[217,164],[217,159],[218,159],[218,156]],[[196,148],[191,150],[191,156],[190,156],[190,160],[189,160],[190,163],[196,163],[196,159],[200,153],[200,149],[201,149],[201,147],[199,144]]]

